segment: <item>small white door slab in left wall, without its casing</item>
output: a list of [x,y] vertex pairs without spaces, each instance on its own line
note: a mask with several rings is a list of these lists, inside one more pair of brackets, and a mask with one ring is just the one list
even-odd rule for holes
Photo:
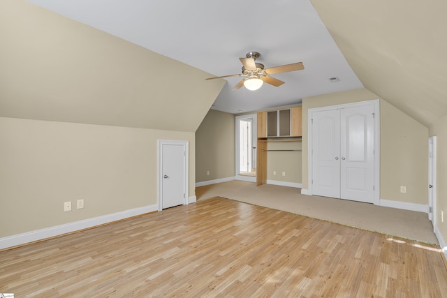
[[161,209],[186,203],[186,145],[161,144]]

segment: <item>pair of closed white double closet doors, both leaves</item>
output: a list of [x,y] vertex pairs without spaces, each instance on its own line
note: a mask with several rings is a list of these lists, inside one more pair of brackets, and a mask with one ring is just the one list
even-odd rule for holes
[[374,106],[314,112],[312,194],[374,202]]

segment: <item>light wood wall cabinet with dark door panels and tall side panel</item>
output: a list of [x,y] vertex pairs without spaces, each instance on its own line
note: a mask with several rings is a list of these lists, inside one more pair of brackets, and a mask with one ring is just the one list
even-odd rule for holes
[[302,107],[258,112],[258,144],[256,145],[256,185],[267,183],[268,138],[301,137]]

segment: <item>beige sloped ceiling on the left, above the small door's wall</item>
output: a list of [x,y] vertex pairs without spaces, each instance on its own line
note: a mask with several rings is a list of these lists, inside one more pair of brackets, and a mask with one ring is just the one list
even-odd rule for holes
[[0,117],[195,132],[224,84],[23,0],[0,1],[0,40]]

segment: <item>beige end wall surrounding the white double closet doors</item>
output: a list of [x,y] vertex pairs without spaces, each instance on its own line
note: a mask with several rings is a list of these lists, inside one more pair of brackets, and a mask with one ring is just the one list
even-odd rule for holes
[[[308,110],[312,107],[339,105],[380,99],[367,89],[312,96],[302,100],[302,188],[307,189],[308,176]],[[428,128],[380,99],[381,162],[380,198],[427,204]],[[400,193],[406,186],[406,194]]]

